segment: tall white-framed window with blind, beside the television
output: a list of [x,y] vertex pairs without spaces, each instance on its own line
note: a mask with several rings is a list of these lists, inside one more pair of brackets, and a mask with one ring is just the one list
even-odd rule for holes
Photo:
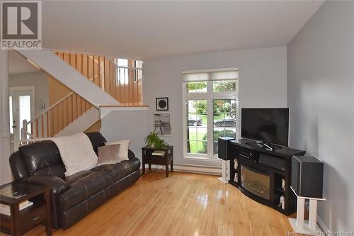
[[215,158],[218,137],[236,137],[237,68],[183,72],[185,157]]

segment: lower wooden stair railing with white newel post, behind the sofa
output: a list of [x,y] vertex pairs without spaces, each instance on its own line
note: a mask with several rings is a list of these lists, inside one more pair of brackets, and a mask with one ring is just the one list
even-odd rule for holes
[[72,91],[32,120],[23,120],[21,140],[53,137],[91,107]]

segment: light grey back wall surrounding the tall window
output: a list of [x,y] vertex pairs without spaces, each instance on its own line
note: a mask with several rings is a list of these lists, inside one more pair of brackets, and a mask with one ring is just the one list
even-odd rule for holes
[[175,164],[220,166],[219,161],[183,158],[183,70],[239,67],[239,107],[286,107],[286,48],[203,53],[144,60],[143,99],[149,105],[148,128],[152,130],[156,97],[169,97]]

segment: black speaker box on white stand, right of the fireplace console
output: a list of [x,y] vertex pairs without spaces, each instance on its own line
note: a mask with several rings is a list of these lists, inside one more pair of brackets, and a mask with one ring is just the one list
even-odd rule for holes
[[324,163],[314,157],[293,156],[291,186],[297,196],[322,198]]

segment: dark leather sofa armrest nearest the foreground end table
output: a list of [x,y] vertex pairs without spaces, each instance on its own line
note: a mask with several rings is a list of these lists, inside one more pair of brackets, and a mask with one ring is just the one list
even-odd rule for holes
[[57,176],[33,175],[24,179],[24,181],[48,186],[50,187],[50,193],[52,193],[52,195],[57,195],[69,189],[67,183]]

